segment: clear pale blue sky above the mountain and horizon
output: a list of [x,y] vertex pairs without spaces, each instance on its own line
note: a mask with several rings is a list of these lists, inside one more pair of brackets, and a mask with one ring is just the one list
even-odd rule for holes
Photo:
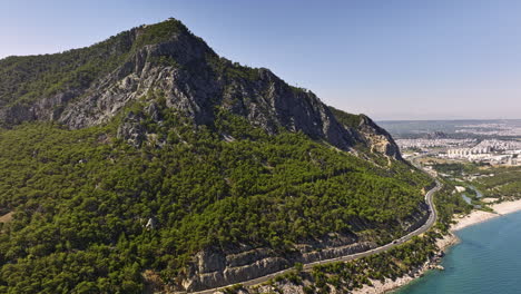
[[0,0],[0,58],[174,17],[219,55],[375,119],[521,118],[519,0]]

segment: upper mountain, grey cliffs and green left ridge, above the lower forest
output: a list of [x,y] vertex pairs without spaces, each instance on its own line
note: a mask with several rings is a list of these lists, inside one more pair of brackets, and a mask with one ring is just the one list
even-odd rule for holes
[[[344,150],[358,143],[368,146],[376,135],[389,140],[379,150],[400,157],[389,134],[367,117],[340,124],[313,92],[288,86],[268,69],[219,58],[174,19],[89,48],[7,58],[0,68],[0,121],[4,126],[33,120],[56,120],[70,128],[100,125],[125,106],[160,91],[167,107],[195,124],[212,124],[215,109],[223,108],[269,134],[279,127],[303,131]],[[131,130],[137,129],[121,130],[121,135],[141,137]]]

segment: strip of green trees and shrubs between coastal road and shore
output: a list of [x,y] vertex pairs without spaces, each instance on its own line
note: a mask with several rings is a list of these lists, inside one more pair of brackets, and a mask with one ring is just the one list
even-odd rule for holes
[[[311,271],[302,271],[302,266],[286,274],[271,280],[269,284],[276,293],[283,293],[281,285],[289,284],[302,286],[304,293],[348,293],[361,288],[363,285],[372,285],[371,281],[395,280],[407,275],[411,271],[423,266],[432,259],[439,248],[435,241],[449,233],[454,214],[468,214],[473,206],[466,204],[460,195],[454,195],[454,185],[442,180],[443,188],[434,197],[438,210],[436,225],[427,233],[415,236],[411,241],[401,244],[390,251],[367,257],[350,261],[316,265]],[[227,288],[227,293],[237,293],[243,286]],[[249,293],[257,293],[256,286],[248,287]]]

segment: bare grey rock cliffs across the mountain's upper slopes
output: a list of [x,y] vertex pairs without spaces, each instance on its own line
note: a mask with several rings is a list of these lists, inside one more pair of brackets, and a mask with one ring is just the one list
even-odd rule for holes
[[[169,24],[175,24],[171,26],[175,29],[163,32],[164,38],[141,45],[150,31],[168,29]],[[30,101],[19,91],[8,90],[0,95],[0,124],[55,120],[70,128],[85,128],[109,121],[125,107],[146,100],[154,92],[164,96],[168,107],[195,124],[212,124],[215,109],[224,108],[271,134],[279,128],[302,131],[344,150],[363,144],[374,151],[401,158],[391,136],[367,117],[357,128],[344,127],[313,92],[288,86],[268,69],[246,68],[219,58],[176,20],[142,26],[114,38],[121,39],[110,42],[115,43],[114,48],[107,50],[107,62],[120,60],[114,70],[58,92],[42,90]],[[89,48],[78,51],[81,50]],[[59,59],[60,55],[52,57]],[[0,60],[0,66],[1,62],[7,61]],[[10,74],[18,75],[4,72]],[[27,79],[46,74],[38,72]],[[0,84],[1,79],[0,76]],[[118,135],[138,146],[142,137],[138,122],[139,117],[127,117]]]

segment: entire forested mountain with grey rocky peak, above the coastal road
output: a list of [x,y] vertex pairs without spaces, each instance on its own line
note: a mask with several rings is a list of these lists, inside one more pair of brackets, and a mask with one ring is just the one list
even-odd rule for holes
[[431,179],[368,117],[220,58],[175,19],[0,60],[0,125],[2,292],[205,290],[429,215]]

